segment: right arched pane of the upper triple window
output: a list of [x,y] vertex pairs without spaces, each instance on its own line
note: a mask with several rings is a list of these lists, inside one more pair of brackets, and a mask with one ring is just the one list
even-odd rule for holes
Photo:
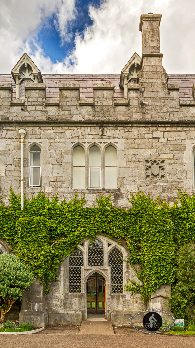
[[105,149],[105,188],[117,189],[117,150],[112,145]]

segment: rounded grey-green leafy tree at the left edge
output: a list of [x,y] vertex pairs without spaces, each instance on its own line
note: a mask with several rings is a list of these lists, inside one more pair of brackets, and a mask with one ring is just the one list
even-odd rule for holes
[[25,262],[9,254],[0,255],[0,322],[34,280],[33,272]]

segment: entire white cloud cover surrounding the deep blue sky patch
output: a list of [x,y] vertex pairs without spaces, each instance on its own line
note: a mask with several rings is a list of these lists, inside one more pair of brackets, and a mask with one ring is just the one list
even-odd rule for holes
[[53,63],[37,45],[37,29],[55,14],[61,43],[69,40],[67,27],[79,20],[75,0],[1,0],[1,72],[8,73],[27,52],[42,73],[119,73],[135,51],[141,55],[140,15],[153,12],[162,14],[160,39],[166,71],[195,73],[194,0],[104,0],[89,11],[93,25],[83,35],[76,34],[69,57]]

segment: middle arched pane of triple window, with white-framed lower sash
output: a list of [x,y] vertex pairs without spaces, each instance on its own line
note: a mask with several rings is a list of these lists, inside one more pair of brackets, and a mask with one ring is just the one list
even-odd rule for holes
[[89,150],[90,187],[101,187],[101,152],[97,146]]

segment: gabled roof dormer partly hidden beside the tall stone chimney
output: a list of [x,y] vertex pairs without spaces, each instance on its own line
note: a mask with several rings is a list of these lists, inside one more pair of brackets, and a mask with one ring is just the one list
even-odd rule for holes
[[136,83],[137,75],[140,72],[141,57],[135,52],[120,74],[120,88],[123,89],[124,97],[128,96],[127,84]]

